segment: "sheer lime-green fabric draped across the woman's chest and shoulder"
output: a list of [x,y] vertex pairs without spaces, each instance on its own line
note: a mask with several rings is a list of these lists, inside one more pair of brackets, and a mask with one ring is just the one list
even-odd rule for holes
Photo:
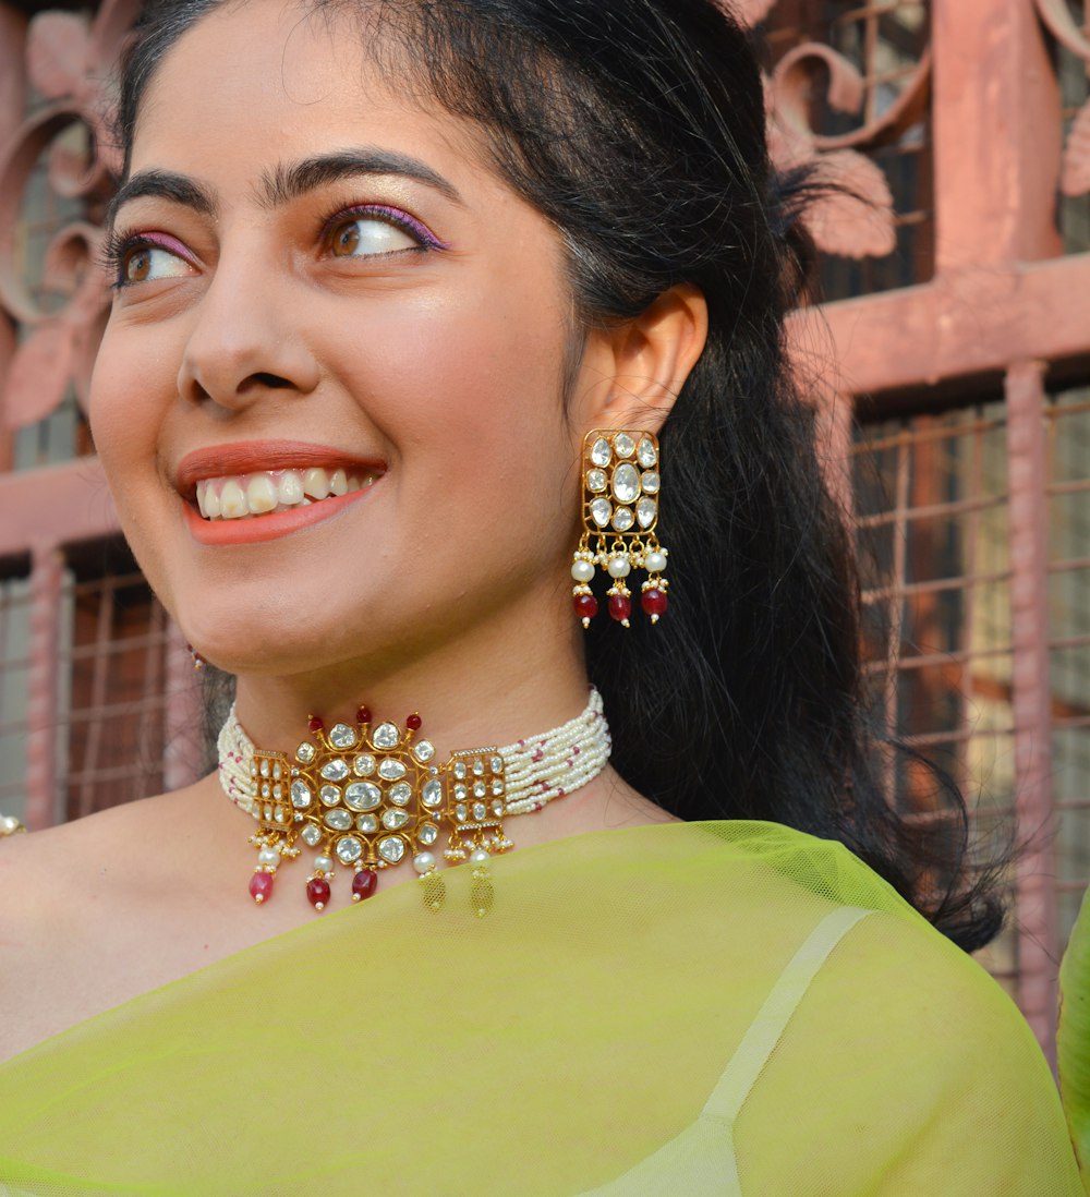
[[581,836],[258,944],[0,1067],[0,1192],[1082,1197],[1001,990],[844,847]]

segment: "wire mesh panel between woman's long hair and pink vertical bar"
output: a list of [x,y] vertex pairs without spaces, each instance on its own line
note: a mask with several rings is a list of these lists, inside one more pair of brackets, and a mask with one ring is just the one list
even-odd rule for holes
[[[873,722],[957,783],[988,851],[1015,813],[1004,406],[865,426],[853,461]],[[911,816],[943,818],[921,761],[891,755],[885,780]],[[1009,929],[987,954],[1009,985],[1016,952]]]

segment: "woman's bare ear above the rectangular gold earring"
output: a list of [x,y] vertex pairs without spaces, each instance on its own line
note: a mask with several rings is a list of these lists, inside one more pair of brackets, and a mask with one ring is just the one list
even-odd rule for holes
[[664,291],[639,316],[591,332],[580,366],[583,431],[657,433],[704,352],[708,314],[690,284]]

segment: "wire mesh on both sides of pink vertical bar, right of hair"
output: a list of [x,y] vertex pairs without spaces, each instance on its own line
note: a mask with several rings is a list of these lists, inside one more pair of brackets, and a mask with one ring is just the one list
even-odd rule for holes
[[[1055,396],[1047,419],[1054,809],[1018,841],[1055,836],[1062,943],[1090,880],[1090,389]],[[872,424],[853,456],[875,722],[945,770],[976,840],[999,846],[1018,792],[1005,406]],[[942,818],[925,770],[891,762],[887,784],[912,815]],[[1013,990],[1012,913],[982,956]]]

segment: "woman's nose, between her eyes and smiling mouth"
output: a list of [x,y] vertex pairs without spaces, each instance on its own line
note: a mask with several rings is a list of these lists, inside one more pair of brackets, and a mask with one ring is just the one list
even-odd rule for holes
[[286,272],[221,259],[196,304],[178,394],[194,403],[242,411],[270,390],[313,391],[319,369],[300,320],[305,297],[291,290]]

